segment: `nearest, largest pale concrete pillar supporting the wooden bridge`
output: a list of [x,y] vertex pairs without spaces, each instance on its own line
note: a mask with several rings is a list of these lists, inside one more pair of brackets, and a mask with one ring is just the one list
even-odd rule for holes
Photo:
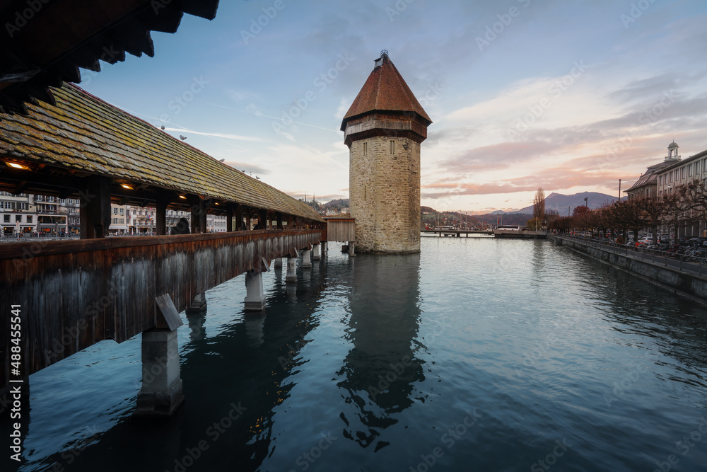
[[142,388],[134,417],[169,417],[184,402],[177,331],[152,328],[142,333]]

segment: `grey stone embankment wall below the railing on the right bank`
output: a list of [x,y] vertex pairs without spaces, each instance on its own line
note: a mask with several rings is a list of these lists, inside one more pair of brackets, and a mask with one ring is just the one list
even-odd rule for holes
[[642,260],[634,257],[630,252],[628,254],[615,253],[607,248],[593,246],[573,238],[548,235],[547,239],[578,253],[589,255],[604,263],[631,272],[631,274],[657,284],[672,293],[680,294],[701,304],[707,304],[707,277],[703,275],[680,270],[677,267],[665,267],[650,260]]

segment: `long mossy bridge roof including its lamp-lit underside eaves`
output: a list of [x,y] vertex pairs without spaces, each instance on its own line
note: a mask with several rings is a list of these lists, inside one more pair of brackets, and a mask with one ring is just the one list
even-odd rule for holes
[[81,178],[103,175],[122,205],[152,205],[166,190],[171,208],[180,207],[178,195],[192,194],[324,221],[309,205],[78,86],[65,84],[52,94],[56,105],[38,102],[27,105],[27,115],[0,115],[0,159],[28,168],[2,166],[0,190],[78,198]]

